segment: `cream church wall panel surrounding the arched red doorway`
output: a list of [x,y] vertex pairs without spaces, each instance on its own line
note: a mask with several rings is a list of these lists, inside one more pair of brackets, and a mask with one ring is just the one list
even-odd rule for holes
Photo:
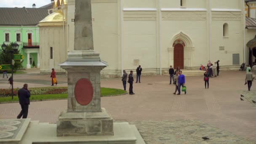
[[[200,67],[200,64],[205,64],[208,61],[206,21],[175,20],[162,21],[162,67],[168,68],[170,65],[173,66],[173,62],[169,63],[169,59],[173,59],[173,55],[169,56],[168,48],[172,47],[172,38],[179,32],[183,32],[192,40],[194,51],[192,51],[191,67]],[[184,56],[184,59],[186,59],[186,56]]]

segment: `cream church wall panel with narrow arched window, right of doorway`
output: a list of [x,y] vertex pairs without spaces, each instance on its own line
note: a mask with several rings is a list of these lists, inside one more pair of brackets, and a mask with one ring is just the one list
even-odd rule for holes
[[[223,24],[229,25],[228,37],[223,37]],[[222,66],[233,65],[233,54],[239,53],[240,63],[243,62],[243,30],[241,21],[213,21],[212,22],[212,60],[221,61]],[[219,47],[224,47],[224,50]]]

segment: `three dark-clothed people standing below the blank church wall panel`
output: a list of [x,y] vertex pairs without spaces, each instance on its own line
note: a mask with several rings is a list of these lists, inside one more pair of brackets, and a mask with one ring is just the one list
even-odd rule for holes
[[[141,68],[141,65],[139,65],[139,67],[137,67],[137,69],[136,69],[136,83],[138,83],[138,80],[139,80],[139,83],[141,83],[141,71],[142,71],[142,68]],[[126,91],[126,82],[128,82],[130,84],[129,94],[133,95],[133,94],[135,94],[135,93],[133,93],[133,81],[134,81],[133,80],[133,71],[132,70],[130,71],[130,74],[128,76],[128,81],[127,81],[127,76],[128,76],[128,74],[125,72],[125,70],[123,70],[123,77],[122,77],[123,88]]]

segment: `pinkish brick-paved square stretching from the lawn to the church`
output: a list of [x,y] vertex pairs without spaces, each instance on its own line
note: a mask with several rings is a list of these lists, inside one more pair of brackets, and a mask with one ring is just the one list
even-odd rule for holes
[[[66,75],[57,75],[57,79],[63,82],[58,86],[67,86]],[[253,107],[251,101],[240,101],[240,94],[247,90],[244,79],[245,72],[221,72],[219,77],[210,78],[210,88],[205,89],[203,76],[186,77],[187,95],[182,93],[177,96],[173,94],[175,86],[168,84],[168,76],[141,77],[141,83],[133,85],[135,95],[103,97],[101,107],[106,108],[115,120],[141,123],[145,120],[200,120],[244,139],[256,141],[256,107]],[[0,82],[2,80],[0,78]],[[30,82],[29,87],[51,85],[49,75],[15,75],[15,80],[21,81],[14,82],[19,88],[27,82]],[[49,84],[44,84],[45,80],[49,80]],[[3,81],[6,83],[6,80]],[[0,83],[0,88],[8,86],[5,83]],[[121,79],[102,79],[101,87],[122,89],[123,85]],[[248,96],[256,92],[255,81],[251,90]],[[67,100],[31,102],[28,117],[40,122],[56,123],[59,113],[64,109],[67,109]],[[18,103],[0,104],[0,119],[16,118],[19,112]],[[187,133],[184,133],[186,136]],[[229,141],[226,143],[232,144]]]

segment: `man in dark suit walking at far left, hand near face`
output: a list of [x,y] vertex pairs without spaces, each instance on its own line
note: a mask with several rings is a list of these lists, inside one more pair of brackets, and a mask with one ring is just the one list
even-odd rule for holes
[[23,85],[23,88],[19,89],[18,91],[18,96],[19,96],[19,104],[21,105],[21,112],[19,113],[19,115],[17,116],[17,119],[20,119],[22,116],[22,118],[27,118],[27,114],[29,111],[29,98],[30,98],[30,92],[27,89],[27,84],[25,83]]

